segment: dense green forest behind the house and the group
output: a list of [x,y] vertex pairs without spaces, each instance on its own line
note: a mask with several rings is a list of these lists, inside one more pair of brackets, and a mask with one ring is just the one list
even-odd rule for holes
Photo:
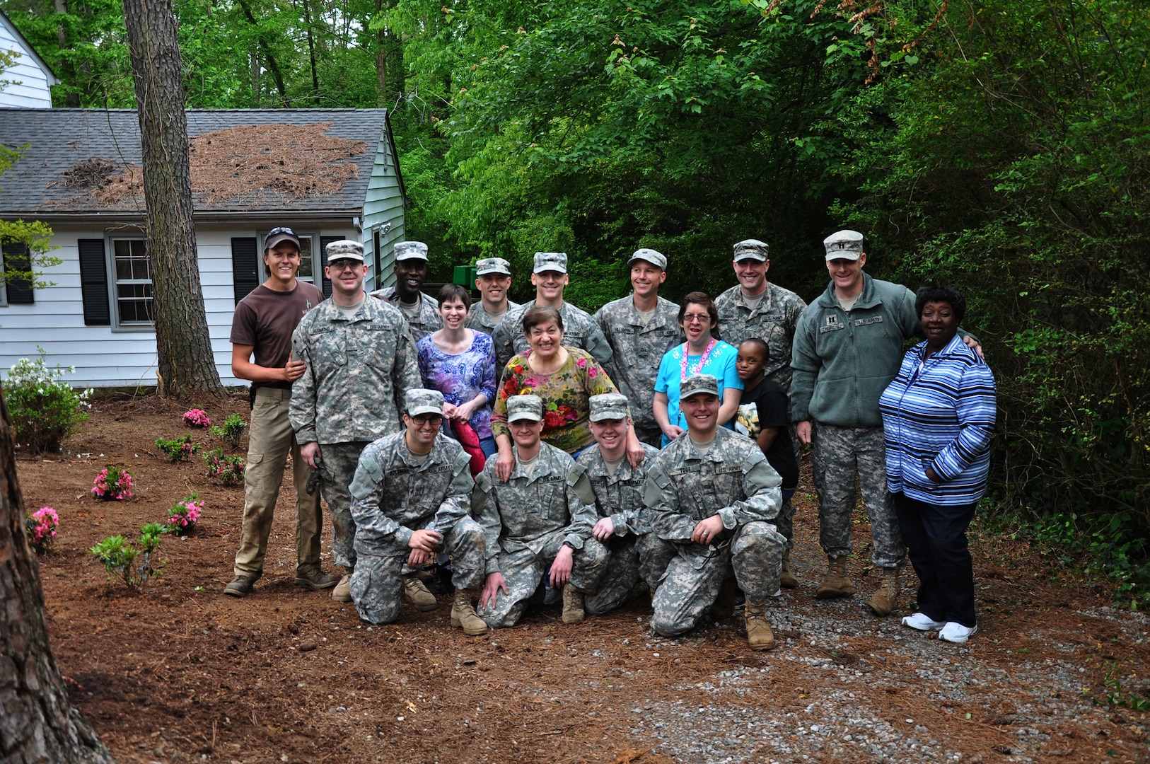
[[[444,5],[446,2],[446,5]],[[734,283],[821,239],[958,286],[998,380],[984,519],[1150,604],[1150,10],[1137,0],[175,0],[187,106],[386,107],[429,281],[572,259],[569,299]],[[63,107],[135,107],[116,0],[0,0]],[[289,221],[290,222],[290,221]],[[527,299],[520,277],[513,298]]]

